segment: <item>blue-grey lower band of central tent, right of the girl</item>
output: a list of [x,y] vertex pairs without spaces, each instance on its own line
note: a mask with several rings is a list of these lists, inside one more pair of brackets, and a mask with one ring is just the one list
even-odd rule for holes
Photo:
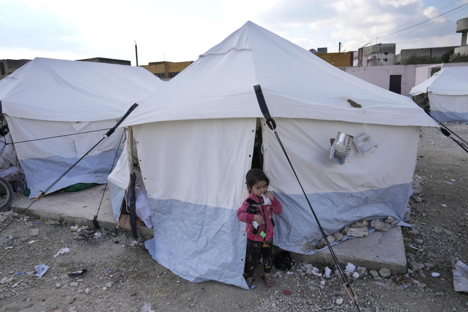
[[[403,220],[411,194],[411,184],[406,183],[363,192],[307,196],[325,234],[331,235],[362,218],[370,220],[392,216]],[[276,193],[275,196],[283,205],[283,212],[274,216],[274,245],[298,254],[315,253],[304,245],[317,242],[323,236],[305,196]]]

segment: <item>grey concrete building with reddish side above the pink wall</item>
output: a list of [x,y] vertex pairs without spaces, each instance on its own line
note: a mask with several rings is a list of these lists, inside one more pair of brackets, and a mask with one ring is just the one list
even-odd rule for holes
[[353,66],[393,65],[395,43],[379,43],[360,48],[354,53]]

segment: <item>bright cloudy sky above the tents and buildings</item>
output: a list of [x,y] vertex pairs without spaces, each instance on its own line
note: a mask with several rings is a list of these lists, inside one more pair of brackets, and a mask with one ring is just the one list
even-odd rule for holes
[[342,51],[396,43],[397,53],[459,45],[455,26],[468,17],[468,0],[0,0],[0,12],[0,59],[103,57],[135,65],[136,40],[144,65],[195,60],[247,20],[328,52],[338,52],[340,41]]

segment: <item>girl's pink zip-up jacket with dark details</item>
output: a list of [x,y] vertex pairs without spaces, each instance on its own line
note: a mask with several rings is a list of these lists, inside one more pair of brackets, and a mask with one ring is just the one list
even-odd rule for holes
[[254,221],[254,215],[247,213],[247,208],[251,205],[249,204],[247,199],[244,200],[242,206],[237,210],[237,218],[239,219],[239,221],[247,223],[246,232],[247,237],[250,240],[262,242],[264,239],[260,235],[260,233],[263,231],[266,234],[265,241],[267,241],[273,237],[273,214],[281,214],[281,212],[283,211],[283,206],[281,206],[280,202],[276,199],[276,197],[274,197],[272,204],[269,205],[263,204],[263,197],[258,198],[252,193],[250,193],[249,197],[247,198],[251,198],[255,201],[256,204],[254,204],[253,206],[256,206],[258,208],[258,214],[262,216],[265,223],[258,226],[258,232],[256,235],[254,235],[253,232],[255,228],[251,223],[252,221]]

